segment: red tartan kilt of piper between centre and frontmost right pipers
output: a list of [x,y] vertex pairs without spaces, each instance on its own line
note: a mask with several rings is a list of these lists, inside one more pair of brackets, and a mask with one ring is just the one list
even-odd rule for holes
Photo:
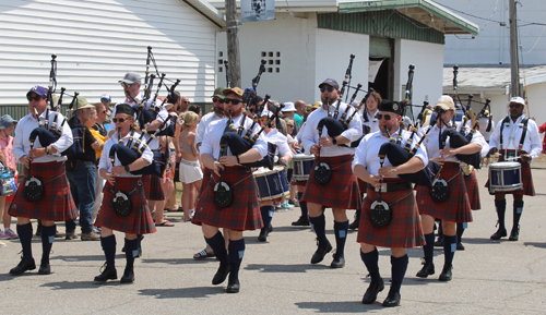
[[356,181],[357,178],[352,169],[353,155],[321,157],[320,159],[321,162],[327,162],[332,169],[332,179],[325,185],[314,182],[313,168],[307,181],[302,201],[319,204],[327,208],[360,208],[363,197]]

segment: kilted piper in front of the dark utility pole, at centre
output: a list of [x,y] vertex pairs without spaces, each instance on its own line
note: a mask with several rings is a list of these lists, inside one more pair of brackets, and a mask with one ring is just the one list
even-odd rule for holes
[[[213,172],[214,179],[211,179],[204,191],[200,195],[195,207],[195,216],[192,222],[201,225],[206,243],[212,247],[216,258],[219,261],[219,267],[213,278],[213,284],[227,282],[227,293],[239,292],[239,267],[245,253],[245,239],[242,231],[256,230],[263,227],[260,207],[258,203],[258,193],[252,174],[247,172],[247,168],[241,163],[249,163],[260,160],[268,153],[268,145],[260,135],[256,144],[246,153],[234,156],[230,149],[227,149],[225,156],[219,156],[219,142],[224,131],[229,124],[236,129],[244,125],[242,134],[252,126],[252,120],[245,118],[242,121],[242,89],[233,87],[224,89],[224,112],[228,117],[222,120],[213,121],[205,130],[203,141],[200,147],[201,161]],[[254,125],[252,134],[259,131]],[[215,184],[222,180],[230,185],[234,201],[226,207],[221,208],[213,202],[213,191]],[[228,230],[229,244],[226,251],[226,244],[219,228]]]

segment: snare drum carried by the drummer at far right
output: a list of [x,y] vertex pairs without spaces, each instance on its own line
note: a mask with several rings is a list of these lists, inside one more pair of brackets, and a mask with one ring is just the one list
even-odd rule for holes
[[519,162],[496,162],[489,165],[489,193],[511,192],[523,189]]

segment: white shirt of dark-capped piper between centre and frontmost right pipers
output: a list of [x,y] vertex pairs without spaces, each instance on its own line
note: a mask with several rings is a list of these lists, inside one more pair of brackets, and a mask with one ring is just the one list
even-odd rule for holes
[[[344,102],[341,104],[340,114],[337,116],[337,119],[342,117],[347,106],[349,105],[346,105]],[[334,105],[330,106],[330,111],[332,112],[332,117],[334,116],[333,112],[335,111],[336,107],[337,107],[337,101],[334,102]],[[347,118],[351,117],[351,114],[353,114],[353,111],[355,111],[354,108],[351,108],[348,110]],[[311,112],[307,118],[307,122],[302,128],[304,132],[301,134],[301,143],[304,144],[306,153],[310,153],[311,146],[319,143],[319,131],[317,130],[317,126],[319,125],[319,121],[324,117],[328,117],[328,111],[321,107]],[[351,142],[359,140],[363,136],[363,122],[360,116],[355,114],[348,125],[348,129],[342,132],[340,135],[348,138]],[[322,130],[322,136],[328,136],[327,126],[324,126]],[[320,149],[320,155],[324,157],[354,155],[354,154],[355,154],[355,148],[344,147],[339,145],[332,145]]]

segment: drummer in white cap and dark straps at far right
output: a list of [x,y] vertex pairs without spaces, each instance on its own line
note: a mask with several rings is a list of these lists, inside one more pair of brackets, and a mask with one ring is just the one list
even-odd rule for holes
[[[525,116],[525,100],[519,96],[512,97],[508,104],[509,114],[497,123],[489,140],[490,154],[500,153],[499,161],[515,160],[521,165],[523,187],[517,191],[495,192],[499,229],[491,240],[500,240],[507,235],[505,213],[507,208],[506,194],[513,195],[513,222],[509,241],[518,241],[520,237],[520,218],[523,211],[523,195],[534,196],[535,189],[531,177],[531,162],[542,152],[538,128],[534,120]],[[500,150],[499,150],[500,149]]]

